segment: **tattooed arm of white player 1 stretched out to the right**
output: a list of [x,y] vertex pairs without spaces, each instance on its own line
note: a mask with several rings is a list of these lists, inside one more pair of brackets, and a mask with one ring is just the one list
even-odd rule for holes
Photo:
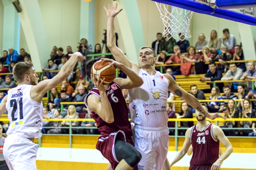
[[209,117],[212,120],[216,117],[222,117],[223,119],[226,119],[226,117],[221,116],[219,113],[209,114],[206,112],[197,98],[178,86],[172,76],[169,74],[164,74],[164,76],[169,81],[168,90],[179,96],[181,99],[185,100],[190,106],[198,110],[200,113],[204,114],[206,117]]

